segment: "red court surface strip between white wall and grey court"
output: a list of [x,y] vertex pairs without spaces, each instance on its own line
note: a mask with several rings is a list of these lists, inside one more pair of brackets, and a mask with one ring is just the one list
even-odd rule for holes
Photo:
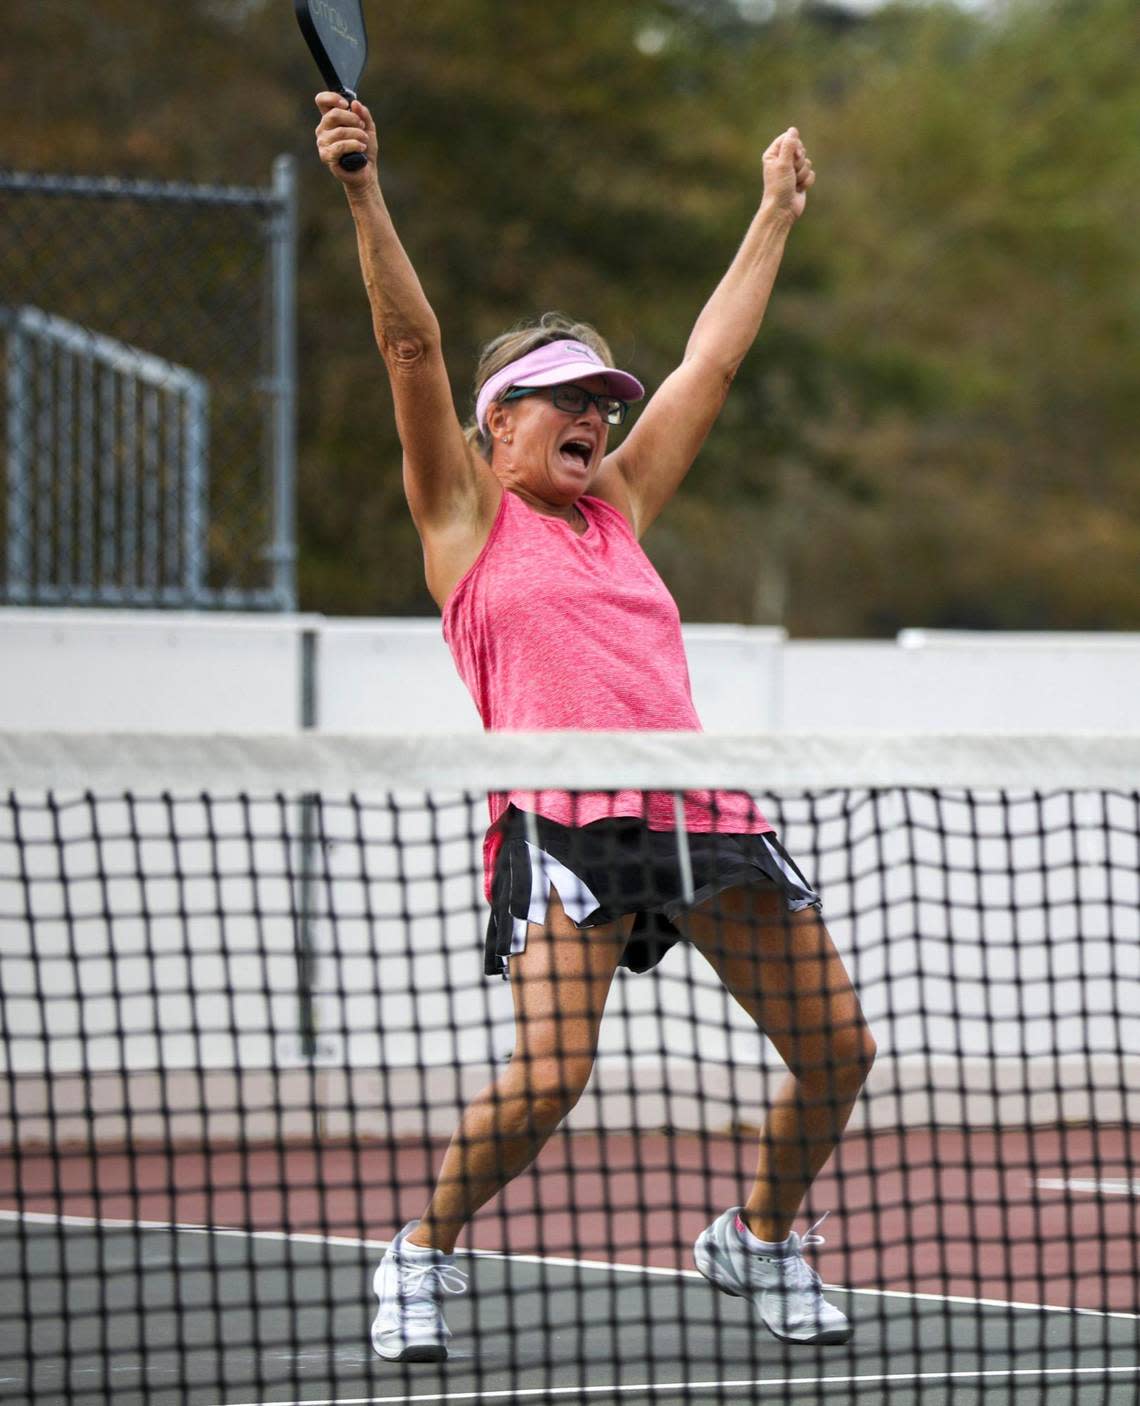
[[[0,1209],[387,1240],[422,1212],[441,1153],[8,1150]],[[461,1246],[692,1268],[697,1233],[745,1198],[752,1156],[748,1135],[561,1133]],[[815,1263],[852,1288],[1140,1313],[1139,1161],[1140,1132],[1120,1128],[852,1133],[805,1208],[831,1212]]]

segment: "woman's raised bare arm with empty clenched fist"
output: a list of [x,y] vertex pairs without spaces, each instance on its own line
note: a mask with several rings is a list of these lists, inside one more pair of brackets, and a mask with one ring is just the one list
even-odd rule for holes
[[641,536],[689,472],[737,370],[760,330],[791,226],[815,181],[794,127],[763,155],[763,198],[728,271],[689,336],[685,359],[597,478],[600,496]]

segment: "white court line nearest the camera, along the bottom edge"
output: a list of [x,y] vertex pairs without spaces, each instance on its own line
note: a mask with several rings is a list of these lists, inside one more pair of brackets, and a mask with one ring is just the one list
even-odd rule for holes
[[[765,1391],[775,1391],[784,1386],[884,1386],[904,1382],[956,1382],[956,1381],[1002,1381],[1042,1376],[1140,1376],[1140,1365],[1136,1367],[1011,1367],[1011,1368],[976,1368],[973,1371],[957,1372],[867,1372],[866,1376],[753,1376],[742,1381],[704,1381],[704,1382],[638,1382],[631,1386],[526,1386],[500,1392],[434,1392],[422,1396],[335,1396],[329,1400],[315,1402],[274,1402],[273,1406],[409,1406],[412,1402],[491,1402],[491,1400],[523,1400],[523,1398],[541,1396],[600,1396],[610,1392],[618,1396],[633,1396],[637,1392],[644,1395],[659,1395],[661,1392],[723,1392],[725,1388],[748,1388],[755,1395]],[[264,1406],[263,1402],[225,1402],[219,1406]]]

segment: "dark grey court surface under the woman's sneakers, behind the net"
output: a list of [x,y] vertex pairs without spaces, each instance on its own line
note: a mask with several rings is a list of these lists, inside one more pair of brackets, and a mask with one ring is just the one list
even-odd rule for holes
[[0,1399],[83,1406],[1140,1400],[1140,1317],[835,1289],[852,1343],[789,1348],[693,1271],[460,1256],[441,1365],[368,1346],[382,1243],[0,1216]]

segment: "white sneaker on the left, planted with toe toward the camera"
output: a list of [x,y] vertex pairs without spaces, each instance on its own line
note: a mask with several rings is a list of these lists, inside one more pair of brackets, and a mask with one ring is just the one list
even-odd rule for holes
[[373,1348],[389,1362],[443,1362],[451,1331],[440,1303],[444,1294],[467,1289],[467,1275],[455,1268],[453,1256],[403,1244],[417,1225],[408,1222],[373,1278],[373,1292],[380,1299]]

